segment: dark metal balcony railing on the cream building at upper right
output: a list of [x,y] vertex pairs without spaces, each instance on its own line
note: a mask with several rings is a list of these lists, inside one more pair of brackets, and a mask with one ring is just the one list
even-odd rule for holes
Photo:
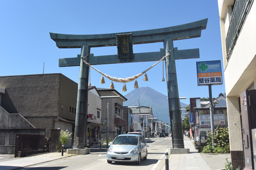
[[253,0],[236,0],[226,37],[227,60],[230,59],[230,55],[233,51],[234,45],[236,44],[236,40],[252,2]]

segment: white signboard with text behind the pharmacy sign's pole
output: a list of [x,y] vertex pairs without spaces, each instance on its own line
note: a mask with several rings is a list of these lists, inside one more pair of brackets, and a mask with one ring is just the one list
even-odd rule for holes
[[[199,116],[200,127],[211,127],[211,116],[209,114],[202,114]],[[225,126],[225,115],[214,114],[213,115],[214,126]]]

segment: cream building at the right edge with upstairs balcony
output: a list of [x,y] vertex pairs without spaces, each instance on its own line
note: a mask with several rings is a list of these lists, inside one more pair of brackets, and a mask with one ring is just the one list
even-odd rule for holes
[[246,149],[241,128],[243,106],[239,106],[239,97],[245,90],[255,89],[256,85],[256,4],[254,0],[218,0],[218,8],[231,159],[234,168],[240,166],[242,169],[253,163],[249,157],[244,156]]

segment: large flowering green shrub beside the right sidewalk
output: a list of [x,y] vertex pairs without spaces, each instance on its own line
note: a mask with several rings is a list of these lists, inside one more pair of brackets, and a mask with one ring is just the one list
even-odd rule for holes
[[207,134],[207,146],[204,147],[202,153],[230,153],[228,127],[217,126],[213,133],[212,147],[212,132]]

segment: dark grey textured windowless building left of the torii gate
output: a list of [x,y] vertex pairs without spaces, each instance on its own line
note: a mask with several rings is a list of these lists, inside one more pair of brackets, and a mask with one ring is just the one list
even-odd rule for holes
[[[37,129],[60,128],[73,133],[77,83],[62,74],[0,77],[1,106],[9,114],[20,114]],[[65,147],[71,147],[72,141]]]

